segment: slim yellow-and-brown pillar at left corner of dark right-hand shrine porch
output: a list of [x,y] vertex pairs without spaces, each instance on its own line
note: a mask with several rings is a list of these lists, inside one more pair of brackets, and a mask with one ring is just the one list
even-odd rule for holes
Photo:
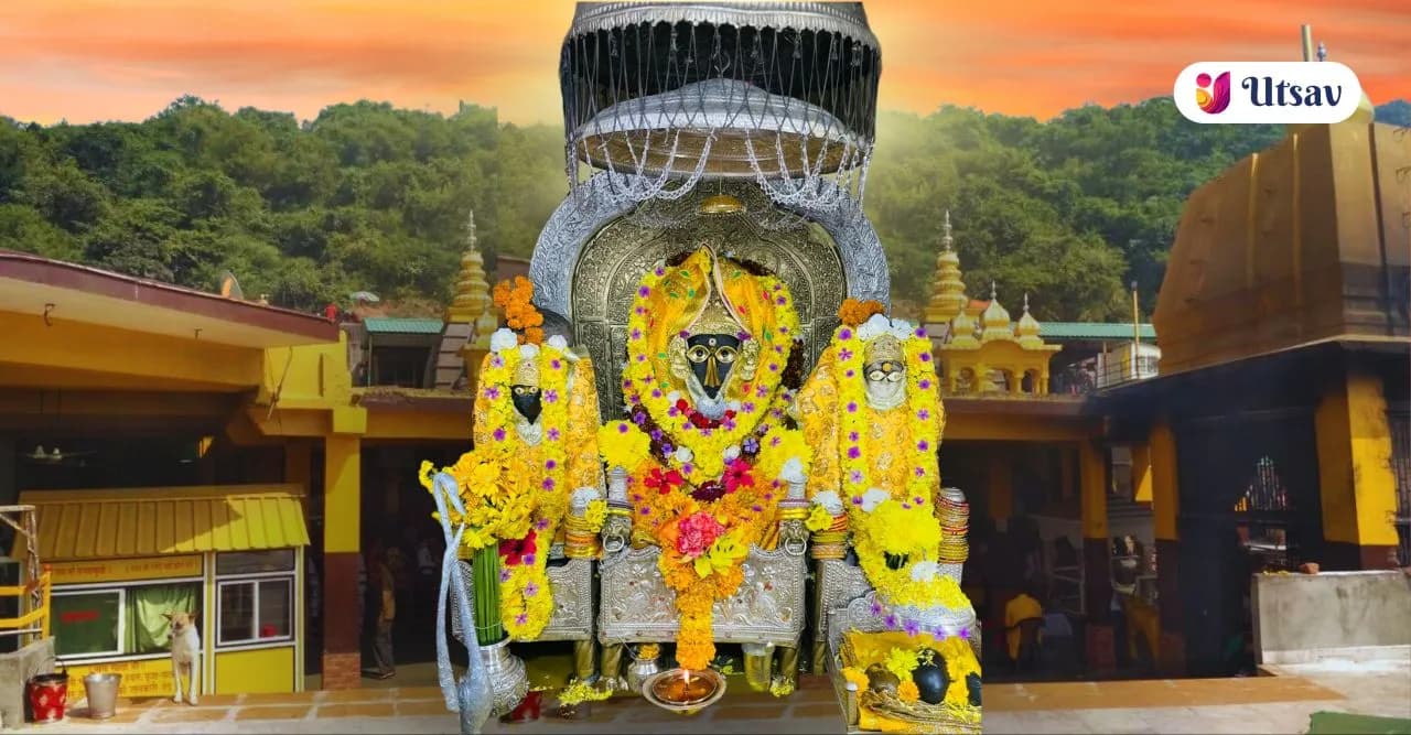
[[1147,439],[1147,471],[1151,484],[1151,515],[1156,532],[1157,611],[1161,616],[1161,640],[1154,640],[1157,672],[1163,676],[1185,673],[1185,635],[1181,628],[1180,546],[1177,540],[1175,435],[1165,423],[1151,427]]

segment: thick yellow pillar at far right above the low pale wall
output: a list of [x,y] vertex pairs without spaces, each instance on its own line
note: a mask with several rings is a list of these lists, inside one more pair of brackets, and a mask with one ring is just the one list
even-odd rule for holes
[[1395,567],[1397,478],[1381,377],[1349,367],[1319,401],[1315,426],[1324,567]]

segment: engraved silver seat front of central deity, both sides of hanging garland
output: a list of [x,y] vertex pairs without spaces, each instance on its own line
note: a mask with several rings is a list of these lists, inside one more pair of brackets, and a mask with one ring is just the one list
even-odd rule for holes
[[[598,608],[598,640],[602,645],[669,643],[676,640],[680,618],[676,593],[658,569],[660,549],[624,549],[604,556],[600,566],[602,604]],[[717,643],[773,643],[797,648],[806,614],[806,557],[783,547],[766,552],[749,547],[744,581],[734,597],[715,601]]]

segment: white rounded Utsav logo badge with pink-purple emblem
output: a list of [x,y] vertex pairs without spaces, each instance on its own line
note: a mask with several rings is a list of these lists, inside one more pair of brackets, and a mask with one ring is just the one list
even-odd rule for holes
[[1175,78],[1175,109],[1197,123],[1342,123],[1362,83],[1333,61],[1199,62]]

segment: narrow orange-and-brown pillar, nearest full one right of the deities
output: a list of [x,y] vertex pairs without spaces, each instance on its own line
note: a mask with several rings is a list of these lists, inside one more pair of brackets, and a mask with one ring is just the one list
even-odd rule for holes
[[1116,666],[1112,622],[1112,560],[1108,553],[1108,453],[1096,443],[1078,444],[1078,491],[1082,501],[1082,587],[1088,618],[1088,669]]

